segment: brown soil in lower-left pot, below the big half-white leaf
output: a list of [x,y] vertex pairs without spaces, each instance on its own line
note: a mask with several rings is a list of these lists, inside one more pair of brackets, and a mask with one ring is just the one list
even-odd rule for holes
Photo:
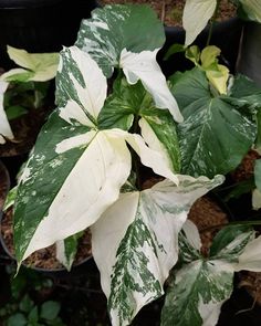
[[[3,242],[11,254],[14,256],[13,230],[12,230],[12,208],[7,210],[1,221],[1,235]],[[79,250],[73,265],[77,265],[92,255],[91,232],[87,229],[79,241]],[[51,245],[32,253],[23,264],[28,267],[33,266],[44,270],[64,270],[64,266],[55,257],[55,245]]]

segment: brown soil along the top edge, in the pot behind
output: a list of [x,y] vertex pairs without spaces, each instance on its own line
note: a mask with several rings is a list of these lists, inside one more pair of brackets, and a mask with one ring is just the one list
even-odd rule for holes
[[[145,3],[149,4],[156,12],[158,18],[168,27],[182,25],[182,10],[185,0],[98,0],[104,4],[112,3]],[[218,21],[222,21],[236,15],[236,7],[229,0],[221,0]]]

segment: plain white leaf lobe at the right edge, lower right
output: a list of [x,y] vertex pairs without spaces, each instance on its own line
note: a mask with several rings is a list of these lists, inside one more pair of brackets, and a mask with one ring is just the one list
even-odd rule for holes
[[261,272],[261,235],[250,241],[239,256],[239,263],[236,265],[234,271],[239,272],[241,270]]

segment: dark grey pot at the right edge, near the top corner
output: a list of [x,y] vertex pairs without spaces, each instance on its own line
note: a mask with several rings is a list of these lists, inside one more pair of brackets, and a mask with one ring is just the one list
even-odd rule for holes
[[246,23],[237,71],[246,74],[261,86],[261,23]]

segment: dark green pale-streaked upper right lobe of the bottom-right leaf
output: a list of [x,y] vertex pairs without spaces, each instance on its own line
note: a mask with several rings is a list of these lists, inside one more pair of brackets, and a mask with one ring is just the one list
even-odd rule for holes
[[215,236],[210,256],[213,259],[226,259],[237,261],[246,245],[254,238],[254,231],[249,225],[228,225],[222,228]]

